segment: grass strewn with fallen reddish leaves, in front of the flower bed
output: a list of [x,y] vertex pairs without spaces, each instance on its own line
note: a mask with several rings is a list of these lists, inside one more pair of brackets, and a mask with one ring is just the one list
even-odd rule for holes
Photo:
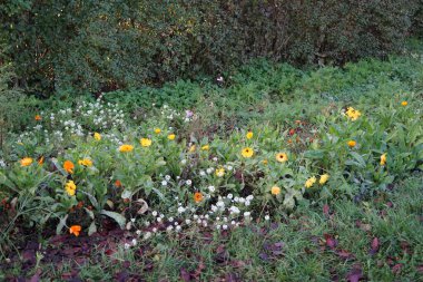
[[423,269],[422,174],[368,202],[305,203],[278,223],[232,232],[157,235],[110,256],[98,249],[78,260],[45,264],[12,276],[82,281],[419,281]]

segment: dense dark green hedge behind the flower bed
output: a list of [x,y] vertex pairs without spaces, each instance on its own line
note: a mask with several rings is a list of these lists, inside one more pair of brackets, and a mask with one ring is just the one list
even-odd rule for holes
[[413,20],[421,25],[421,7],[413,0],[8,0],[0,40],[20,86],[43,96],[98,93],[219,75],[256,57],[301,65],[384,57],[401,48]]

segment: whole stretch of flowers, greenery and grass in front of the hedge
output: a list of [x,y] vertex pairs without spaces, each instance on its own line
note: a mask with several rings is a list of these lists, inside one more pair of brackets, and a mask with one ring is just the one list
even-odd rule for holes
[[419,279],[422,58],[35,107],[2,137],[0,278]]

